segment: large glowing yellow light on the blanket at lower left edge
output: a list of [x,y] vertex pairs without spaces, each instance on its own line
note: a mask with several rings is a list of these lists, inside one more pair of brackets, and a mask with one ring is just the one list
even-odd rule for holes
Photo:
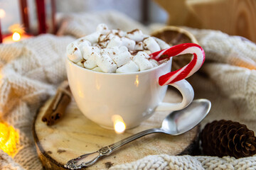
[[0,123],[0,149],[13,156],[17,151],[18,132],[13,127]]

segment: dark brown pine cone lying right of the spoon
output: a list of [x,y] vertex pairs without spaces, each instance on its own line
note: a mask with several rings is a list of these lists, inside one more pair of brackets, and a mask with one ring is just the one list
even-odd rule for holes
[[256,137],[246,125],[231,120],[208,123],[201,132],[203,153],[209,156],[250,157],[256,154]]

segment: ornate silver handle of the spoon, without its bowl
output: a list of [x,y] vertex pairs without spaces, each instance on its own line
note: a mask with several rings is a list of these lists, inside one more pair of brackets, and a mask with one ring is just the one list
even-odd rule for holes
[[111,154],[114,150],[118,149],[119,147],[122,147],[122,145],[132,142],[133,140],[137,140],[139,137],[143,137],[144,135],[149,135],[151,133],[156,133],[156,132],[164,132],[164,131],[159,128],[144,130],[130,137],[127,137],[124,140],[120,140],[119,142],[116,142],[112,145],[109,145],[107,147],[102,147],[97,152],[82,154],[80,157],[71,159],[64,166],[65,168],[68,168],[68,169],[81,169],[82,167],[91,166],[92,164],[97,162],[97,160],[100,159],[100,157],[104,157]]

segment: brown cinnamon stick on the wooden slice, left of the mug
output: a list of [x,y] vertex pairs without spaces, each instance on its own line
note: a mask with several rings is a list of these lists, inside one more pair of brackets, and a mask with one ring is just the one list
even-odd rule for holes
[[71,91],[68,81],[63,81],[58,87],[53,101],[47,108],[46,113],[43,115],[42,121],[47,125],[53,125],[57,120],[63,117],[65,109],[71,101]]

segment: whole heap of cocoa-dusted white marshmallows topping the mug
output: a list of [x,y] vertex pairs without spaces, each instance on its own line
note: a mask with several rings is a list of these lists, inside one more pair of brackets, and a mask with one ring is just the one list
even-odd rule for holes
[[142,30],[110,30],[102,23],[95,33],[71,42],[67,55],[69,60],[86,69],[128,73],[158,66],[159,63],[151,60],[149,54],[168,47],[163,40],[144,35]]

